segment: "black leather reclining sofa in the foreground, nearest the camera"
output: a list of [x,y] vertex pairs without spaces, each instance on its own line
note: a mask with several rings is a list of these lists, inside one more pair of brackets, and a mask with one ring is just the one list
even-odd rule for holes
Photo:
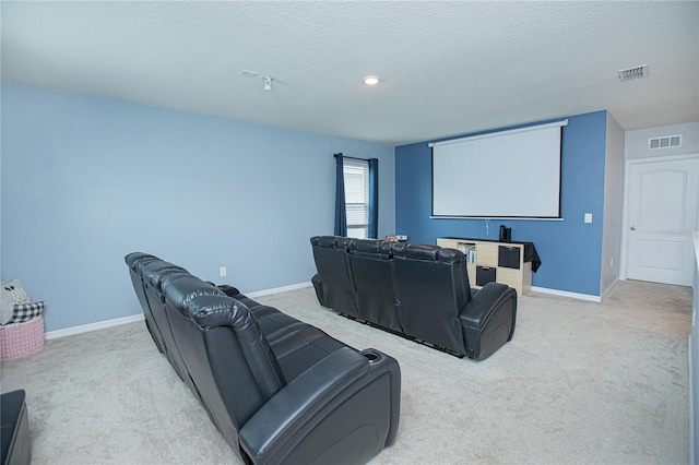
[[126,262],[153,341],[245,463],[366,463],[394,442],[395,359],[154,255]]

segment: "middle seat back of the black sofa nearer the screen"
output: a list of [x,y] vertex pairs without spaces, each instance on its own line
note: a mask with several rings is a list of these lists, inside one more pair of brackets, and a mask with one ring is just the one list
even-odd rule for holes
[[402,309],[393,293],[391,253],[391,242],[384,240],[357,239],[347,243],[359,318],[402,333],[399,317]]

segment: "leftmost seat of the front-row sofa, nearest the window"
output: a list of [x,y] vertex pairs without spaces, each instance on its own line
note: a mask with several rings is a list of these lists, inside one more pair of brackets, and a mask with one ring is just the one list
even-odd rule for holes
[[346,248],[354,241],[346,237],[317,236],[311,238],[318,275],[313,287],[323,307],[350,317],[359,317],[354,298],[354,283],[347,264]]

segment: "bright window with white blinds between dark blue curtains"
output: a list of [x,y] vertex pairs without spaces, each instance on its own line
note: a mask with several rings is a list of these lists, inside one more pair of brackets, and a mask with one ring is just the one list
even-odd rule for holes
[[347,237],[366,239],[369,230],[369,163],[344,159]]

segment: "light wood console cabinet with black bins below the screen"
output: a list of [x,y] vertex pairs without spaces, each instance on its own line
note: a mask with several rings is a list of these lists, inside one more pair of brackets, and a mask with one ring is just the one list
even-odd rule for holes
[[532,288],[532,263],[525,261],[524,243],[440,237],[437,246],[457,249],[466,255],[472,287],[481,288],[495,281],[514,288],[519,296]]

